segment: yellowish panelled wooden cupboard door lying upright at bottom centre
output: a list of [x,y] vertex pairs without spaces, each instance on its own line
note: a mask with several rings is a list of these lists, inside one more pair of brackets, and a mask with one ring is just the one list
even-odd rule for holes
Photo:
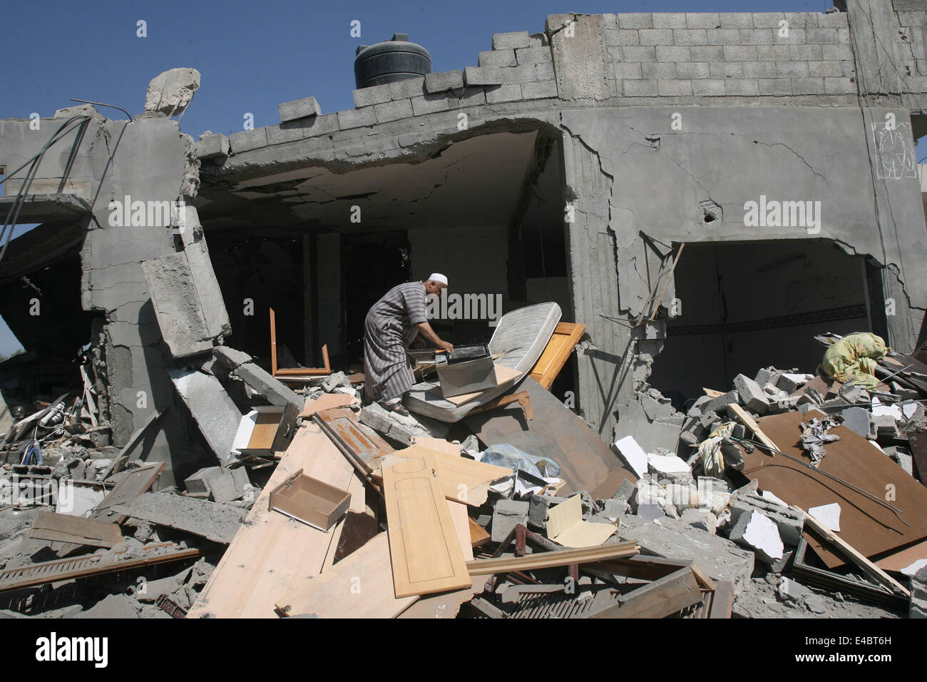
[[386,467],[383,493],[396,597],[470,586],[435,458],[428,455]]

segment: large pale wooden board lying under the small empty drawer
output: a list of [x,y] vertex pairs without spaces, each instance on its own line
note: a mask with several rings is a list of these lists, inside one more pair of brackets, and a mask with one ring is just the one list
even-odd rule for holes
[[[303,425],[264,485],[210,581],[187,614],[200,618],[276,618],[274,601],[291,585],[322,570],[333,534],[276,512],[267,503],[273,488],[298,470],[341,489],[354,470],[316,424]],[[336,564],[337,565],[337,564]]]

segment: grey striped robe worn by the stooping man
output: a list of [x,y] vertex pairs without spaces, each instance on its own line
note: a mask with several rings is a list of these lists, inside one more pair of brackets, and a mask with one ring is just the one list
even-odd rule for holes
[[397,398],[412,388],[412,365],[406,354],[427,322],[425,284],[393,287],[375,302],[363,325],[364,394],[369,401]]

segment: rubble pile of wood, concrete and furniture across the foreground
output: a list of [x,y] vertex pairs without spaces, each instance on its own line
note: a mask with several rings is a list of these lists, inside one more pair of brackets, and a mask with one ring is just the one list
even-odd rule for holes
[[92,392],[10,426],[2,606],[13,617],[922,617],[921,369],[888,349],[846,381],[765,367],[705,389],[684,414],[644,384],[651,427],[679,429],[675,451],[648,452],[633,432],[609,448],[532,377],[442,422],[362,405],[357,372],[294,390],[216,347],[171,370],[212,450],[172,485],[133,443],[88,442],[106,428],[90,422]]

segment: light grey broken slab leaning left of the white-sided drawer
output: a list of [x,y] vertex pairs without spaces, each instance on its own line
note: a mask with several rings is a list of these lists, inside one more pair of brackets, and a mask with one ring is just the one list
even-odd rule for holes
[[190,369],[171,369],[168,374],[212,452],[224,463],[231,456],[242,417],[235,403],[210,374]]

